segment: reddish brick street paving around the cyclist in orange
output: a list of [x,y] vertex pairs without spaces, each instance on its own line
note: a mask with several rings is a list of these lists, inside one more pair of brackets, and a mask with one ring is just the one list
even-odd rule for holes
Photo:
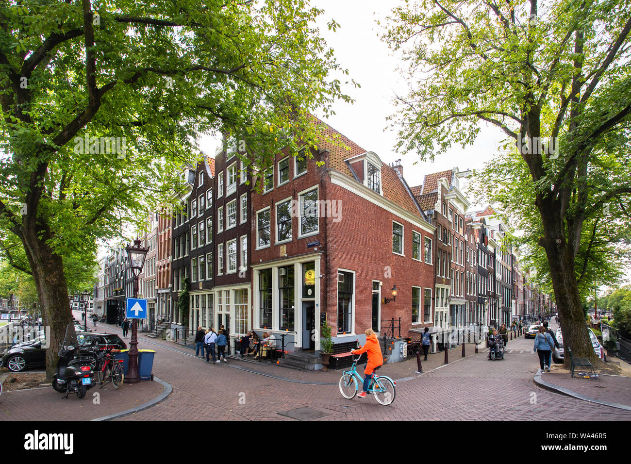
[[[174,393],[160,405],[121,420],[292,420],[279,412],[300,407],[326,414],[319,420],[631,420],[629,412],[536,387],[538,358],[531,352],[531,340],[523,338],[509,342],[504,360],[490,361],[484,353],[469,356],[471,347],[465,359],[459,348],[451,350],[451,364],[443,367],[443,354],[430,355],[420,376],[414,374],[416,360],[384,366],[385,375],[409,378],[397,383],[389,407],[370,397],[345,400],[337,385],[292,383],[206,364],[188,348],[174,345],[140,336],[139,347],[157,352],[153,371],[174,386]],[[253,367],[239,360],[228,364]],[[301,372],[269,364],[256,368],[292,379],[334,382],[340,376],[339,371]]]

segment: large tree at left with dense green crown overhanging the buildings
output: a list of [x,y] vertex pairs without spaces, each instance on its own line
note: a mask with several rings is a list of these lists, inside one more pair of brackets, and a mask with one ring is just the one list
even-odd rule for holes
[[[24,250],[21,265],[3,246],[33,276],[52,346],[72,321],[73,254],[177,196],[201,133],[239,141],[246,169],[322,140],[310,112],[351,99],[321,13],[302,0],[0,6],[0,239]],[[54,366],[48,350],[49,378]]]

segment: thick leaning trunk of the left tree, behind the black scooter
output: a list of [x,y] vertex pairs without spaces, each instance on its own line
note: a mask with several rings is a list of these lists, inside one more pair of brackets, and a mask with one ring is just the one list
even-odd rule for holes
[[[68,285],[64,275],[64,264],[61,256],[52,253],[46,243],[50,237],[47,227],[23,228],[22,242],[27,252],[28,261],[37,287],[42,321],[49,327],[50,334],[46,340],[46,380],[52,381],[56,374],[59,345],[64,339],[66,326],[73,322],[72,311],[68,302]],[[38,229],[38,230],[37,230]]]

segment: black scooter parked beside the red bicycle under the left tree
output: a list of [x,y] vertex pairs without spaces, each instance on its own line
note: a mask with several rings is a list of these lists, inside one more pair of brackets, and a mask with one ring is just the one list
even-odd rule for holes
[[59,348],[57,374],[52,379],[52,388],[59,393],[76,393],[77,398],[83,398],[88,390],[95,386],[94,370],[91,359],[81,357],[79,343],[74,331],[74,324],[66,327],[66,336]]

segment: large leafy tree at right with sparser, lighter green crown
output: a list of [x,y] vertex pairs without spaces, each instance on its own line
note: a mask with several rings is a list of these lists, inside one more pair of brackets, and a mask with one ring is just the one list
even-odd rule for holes
[[394,9],[384,33],[409,51],[412,90],[392,116],[399,149],[433,157],[468,145],[485,123],[516,146],[563,340],[594,362],[576,271],[584,241],[599,238],[598,211],[628,217],[631,206],[629,7],[421,0]]

